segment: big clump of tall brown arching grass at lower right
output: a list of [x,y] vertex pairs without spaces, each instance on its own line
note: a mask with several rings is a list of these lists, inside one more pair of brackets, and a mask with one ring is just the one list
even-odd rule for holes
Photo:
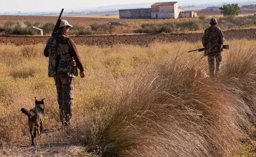
[[[243,147],[240,141],[254,139],[248,134],[256,122],[256,67],[248,62],[256,57],[251,53],[255,50],[252,44],[242,51],[231,49],[224,55],[218,79],[204,76],[207,65],[201,56],[190,58],[180,51],[166,62],[158,58],[130,77],[113,80],[113,100],[98,104],[104,109],[91,119],[91,132],[87,132],[95,153],[103,157],[235,156],[233,150]],[[230,66],[235,59],[240,62]],[[237,73],[231,75],[233,70]]]

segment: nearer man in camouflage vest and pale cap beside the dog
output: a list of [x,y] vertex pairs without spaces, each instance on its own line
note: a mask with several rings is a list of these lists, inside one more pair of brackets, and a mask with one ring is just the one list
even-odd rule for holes
[[66,20],[61,20],[58,33],[51,37],[44,49],[44,55],[49,57],[48,76],[53,77],[57,88],[57,100],[59,104],[59,117],[62,126],[71,122],[74,106],[73,77],[78,75],[85,77],[81,59],[73,40],[67,36],[69,27]]

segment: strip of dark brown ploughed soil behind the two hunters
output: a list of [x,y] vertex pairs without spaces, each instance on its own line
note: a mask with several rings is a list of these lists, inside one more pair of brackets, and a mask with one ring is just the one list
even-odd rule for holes
[[[201,40],[203,33],[173,33],[173,34],[140,34],[140,35],[85,35],[72,36],[75,44],[80,45],[98,45],[111,46],[114,44],[132,44],[147,46],[153,42],[198,42]],[[233,39],[256,39],[256,29],[233,29],[224,31],[227,40]],[[28,45],[28,44],[46,44],[49,36],[0,36],[0,43]]]

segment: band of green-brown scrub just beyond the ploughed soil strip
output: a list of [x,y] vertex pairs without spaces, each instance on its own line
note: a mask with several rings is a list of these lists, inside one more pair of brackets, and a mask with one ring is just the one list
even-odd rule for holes
[[[171,32],[189,32],[203,31],[209,27],[210,18],[199,16],[197,18],[184,19],[136,19],[126,20],[124,22],[108,22],[105,24],[94,22],[88,26],[73,24],[70,29],[70,35],[89,35],[89,34],[122,34],[122,33],[171,33]],[[256,15],[245,17],[219,17],[218,26],[222,30],[255,27]],[[5,33],[17,35],[35,35],[39,34],[32,26],[43,29],[44,34],[50,34],[53,23],[31,23],[31,22],[6,22]]]

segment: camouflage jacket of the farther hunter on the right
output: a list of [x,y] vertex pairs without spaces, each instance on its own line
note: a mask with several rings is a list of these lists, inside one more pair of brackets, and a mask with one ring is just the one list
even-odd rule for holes
[[205,47],[204,55],[219,54],[225,41],[222,30],[214,25],[204,30],[202,43]]

